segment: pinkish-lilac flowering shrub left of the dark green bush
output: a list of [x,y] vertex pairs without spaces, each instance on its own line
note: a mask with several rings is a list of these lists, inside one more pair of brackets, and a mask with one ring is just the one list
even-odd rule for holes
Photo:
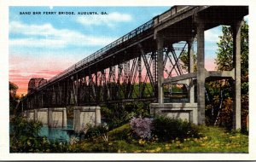
[[132,118],[130,121],[131,130],[141,138],[150,138],[153,119]]

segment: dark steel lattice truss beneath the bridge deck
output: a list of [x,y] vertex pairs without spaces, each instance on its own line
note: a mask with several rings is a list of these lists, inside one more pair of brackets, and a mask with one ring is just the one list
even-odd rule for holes
[[[183,74],[179,56],[188,50],[185,42],[162,49],[165,77]],[[133,51],[135,52],[135,51]],[[137,55],[126,52],[107,68],[88,68],[42,90],[35,90],[28,107],[66,107],[104,105],[131,101],[157,101],[157,53],[146,53],[137,45]],[[126,59],[126,56],[128,59]],[[131,58],[131,59],[130,59]],[[120,63],[117,63],[120,62]],[[30,97],[30,96],[28,96]]]

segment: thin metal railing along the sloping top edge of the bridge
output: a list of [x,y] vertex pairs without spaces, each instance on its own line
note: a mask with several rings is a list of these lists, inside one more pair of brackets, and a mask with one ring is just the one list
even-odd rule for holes
[[77,71],[79,68],[84,67],[84,65],[89,63],[90,61],[93,61],[93,60],[101,57],[102,55],[104,55],[109,49],[113,49],[114,47],[118,46],[119,44],[124,43],[125,41],[136,37],[137,35],[141,34],[142,32],[147,31],[148,29],[150,29],[153,26],[154,26],[154,19],[148,20],[148,22],[144,23],[142,26],[138,26],[133,31],[131,31],[131,32],[125,34],[123,37],[115,40],[113,43],[110,43],[107,46],[105,46],[104,48],[97,50],[95,53],[93,53],[92,55],[89,55],[88,57],[85,57],[83,60],[74,64],[72,67],[68,67],[63,72],[60,72],[59,74],[55,75],[55,77],[50,78],[47,83],[40,84],[38,86],[38,89],[43,88],[46,84],[52,83],[57,79],[66,77],[70,72]]

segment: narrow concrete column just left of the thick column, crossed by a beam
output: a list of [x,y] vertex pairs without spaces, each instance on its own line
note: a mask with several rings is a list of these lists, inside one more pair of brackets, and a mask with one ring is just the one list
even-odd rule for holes
[[[191,38],[188,42],[188,56],[189,56],[189,73],[194,72],[194,38]],[[193,79],[190,80],[189,85],[189,102],[194,103],[195,102],[195,86],[193,84]]]

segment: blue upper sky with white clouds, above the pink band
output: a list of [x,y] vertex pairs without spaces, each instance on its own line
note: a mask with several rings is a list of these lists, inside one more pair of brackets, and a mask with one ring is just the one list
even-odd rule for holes
[[[55,55],[71,52],[73,56],[82,59],[169,8],[11,7],[10,53],[19,49],[24,55],[30,56],[38,51],[55,53],[54,49],[57,49],[58,54]],[[42,14],[20,14],[34,11],[40,11]],[[43,14],[44,11],[93,11],[107,12],[108,15],[46,15]],[[21,41],[24,43],[20,43]]]

